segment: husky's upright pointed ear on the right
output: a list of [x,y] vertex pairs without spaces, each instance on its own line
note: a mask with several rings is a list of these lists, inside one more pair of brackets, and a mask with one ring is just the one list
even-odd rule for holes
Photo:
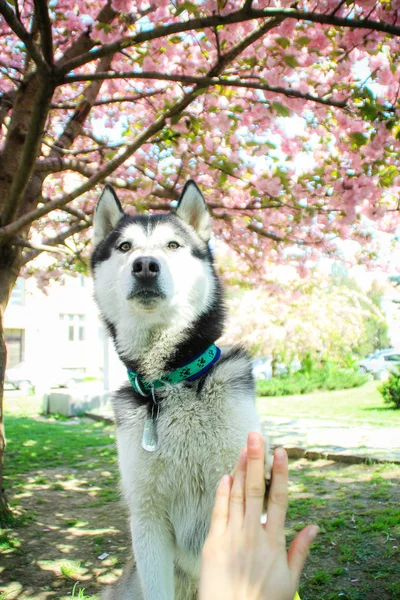
[[191,225],[204,242],[209,241],[211,237],[210,214],[203,194],[192,179],[185,183],[176,214],[182,221]]

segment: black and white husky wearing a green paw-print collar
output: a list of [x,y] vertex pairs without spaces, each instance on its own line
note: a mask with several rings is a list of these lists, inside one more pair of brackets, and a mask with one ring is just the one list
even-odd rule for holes
[[193,181],[171,214],[129,216],[110,186],[96,209],[95,298],[131,382],[113,407],[136,561],[106,598],[197,597],[218,482],[260,431],[247,354],[214,344],[225,309],[210,235]]

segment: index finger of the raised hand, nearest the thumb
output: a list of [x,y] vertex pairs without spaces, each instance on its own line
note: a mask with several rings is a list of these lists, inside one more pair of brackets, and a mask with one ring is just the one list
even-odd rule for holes
[[266,531],[274,538],[284,537],[288,499],[288,459],[283,448],[277,448],[272,466],[272,482],[267,505]]

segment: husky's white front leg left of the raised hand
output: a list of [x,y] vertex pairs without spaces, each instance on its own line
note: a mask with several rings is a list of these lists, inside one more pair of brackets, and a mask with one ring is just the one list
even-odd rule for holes
[[174,549],[166,524],[131,519],[133,553],[143,600],[174,600]]

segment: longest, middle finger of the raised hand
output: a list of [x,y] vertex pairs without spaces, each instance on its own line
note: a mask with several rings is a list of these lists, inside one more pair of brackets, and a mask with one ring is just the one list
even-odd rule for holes
[[264,440],[252,432],[247,438],[246,514],[248,525],[260,525],[265,495]]

